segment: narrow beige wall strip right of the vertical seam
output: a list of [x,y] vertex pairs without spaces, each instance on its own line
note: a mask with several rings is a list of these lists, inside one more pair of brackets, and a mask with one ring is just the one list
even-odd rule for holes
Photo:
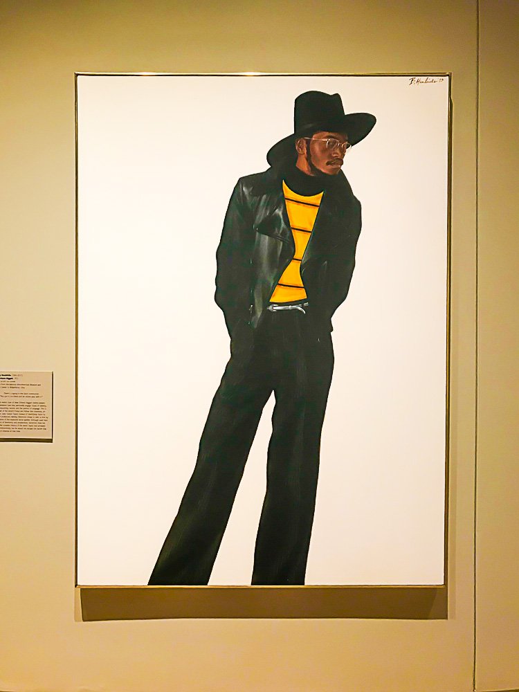
[[519,687],[519,3],[481,3],[477,689]]

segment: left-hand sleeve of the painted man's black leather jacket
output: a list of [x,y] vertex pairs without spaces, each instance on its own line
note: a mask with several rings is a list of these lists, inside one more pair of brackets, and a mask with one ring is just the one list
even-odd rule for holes
[[230,336],[239,322],[248,318],[253,242],[252,213],[245,201],[243,179],[239,179],[230,197],[217,249],[215,301],[224,312]]

